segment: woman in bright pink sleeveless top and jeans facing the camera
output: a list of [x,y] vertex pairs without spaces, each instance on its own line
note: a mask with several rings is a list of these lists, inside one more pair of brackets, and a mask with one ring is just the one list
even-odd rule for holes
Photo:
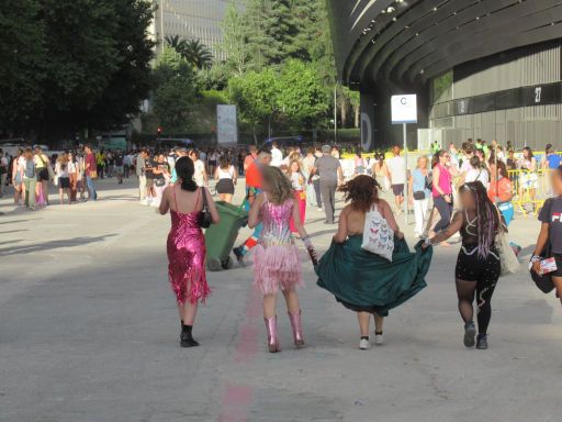
[[[452,174],[449,169],[449,153],[445,149],[434,155],[432,168],[432,191],[434,208],[439,211],[440,220],[434,227],[436,233],[446,230],[451,222],[452,213]],[[447,242],[442,243],[448,246]]]

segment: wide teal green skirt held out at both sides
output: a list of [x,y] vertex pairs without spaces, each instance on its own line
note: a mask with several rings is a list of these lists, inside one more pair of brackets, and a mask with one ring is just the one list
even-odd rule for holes
[[331,243],[315,271],[317,285],[337,301],[357,312],[386,316],[389,310],[404,303],[425,288],[432,248],[422,242],[409,252],[406,241],[394,237],[392,263],[361,248],[363,236]]

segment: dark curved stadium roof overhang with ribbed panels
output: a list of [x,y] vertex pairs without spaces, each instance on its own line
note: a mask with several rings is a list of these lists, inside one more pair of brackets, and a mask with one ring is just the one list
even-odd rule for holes
[[562,37],[562,0],[328,0],[341,81],[425,84],[476,58]]

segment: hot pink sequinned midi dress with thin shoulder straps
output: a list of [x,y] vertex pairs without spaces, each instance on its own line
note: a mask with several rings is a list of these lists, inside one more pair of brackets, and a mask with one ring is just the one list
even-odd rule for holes
[[[176,187],[173,201],[176,201]],[[201,190],[200,190],[201,192]],[[199,195],[201,197],[201,193]],[[195,209],[199,204],[195,204]],[[205,237],[199,226],[201,211],[188,214],[170,210],[171,229],[168,234],[168,278],[178,303],[205,301],[211,293],[205,274]]]

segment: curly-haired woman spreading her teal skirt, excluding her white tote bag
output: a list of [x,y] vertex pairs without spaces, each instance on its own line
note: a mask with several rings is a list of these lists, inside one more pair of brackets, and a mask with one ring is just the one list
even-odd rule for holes
[[[379,199],[379,185],[369,176],[358,176],[340,188],[346,202],[330,248],[315,270],[317,285],[331,292],[344,307],[356,311],[361,331],[359,348],[370,348],[369,323],[375,321],[375,344],[383,343],[383,318],[426,287],[425,276],[432,251],[420,243],[409,252],[404,234],[389,203]],[[361,247],[366,214],[374,207],[394,231],[392,262]]]

